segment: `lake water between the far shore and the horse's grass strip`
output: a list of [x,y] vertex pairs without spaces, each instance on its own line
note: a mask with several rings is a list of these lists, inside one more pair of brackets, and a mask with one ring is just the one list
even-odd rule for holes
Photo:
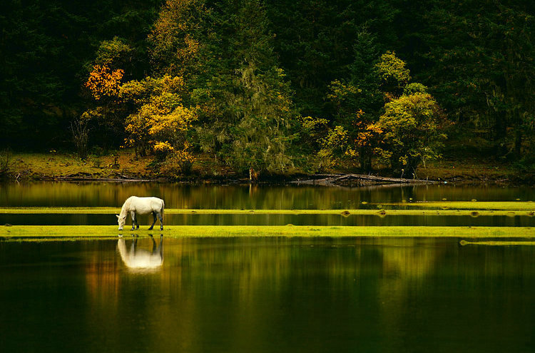
[[[29,183],[0,184],[0,206],[121,207],[131,195],[154,195],[166,208],[352,209],[403,200],[535,200],[535,188],[420,185],[407,187],[323,188],[263,185],[184,185],[180,183]],[[365,204],[362,204],[365,203]],[[141,223],[151,222],[150,216]],[[129,220],[128,220],[129,222]],[[0,215],[0,224],[110,225],[115,215]],[[535,218],[379,215],[165,215],[168,225],[436,225],[534,227]]]

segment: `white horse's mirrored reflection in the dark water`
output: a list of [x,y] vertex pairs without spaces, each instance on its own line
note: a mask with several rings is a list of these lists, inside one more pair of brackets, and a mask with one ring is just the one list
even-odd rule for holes
[[123,259],[126,267],[133,270],[151,270],[161,267],[163,264],[163,235],[160,235],[160,244],[156,245],[156,241],[152,235],[149,235],[153,241],[153,250],[138,249],[138,236],[133,236],[130,250],[126,247],[126,242],[123,237],[119,238],[117,247],[121,259]]

